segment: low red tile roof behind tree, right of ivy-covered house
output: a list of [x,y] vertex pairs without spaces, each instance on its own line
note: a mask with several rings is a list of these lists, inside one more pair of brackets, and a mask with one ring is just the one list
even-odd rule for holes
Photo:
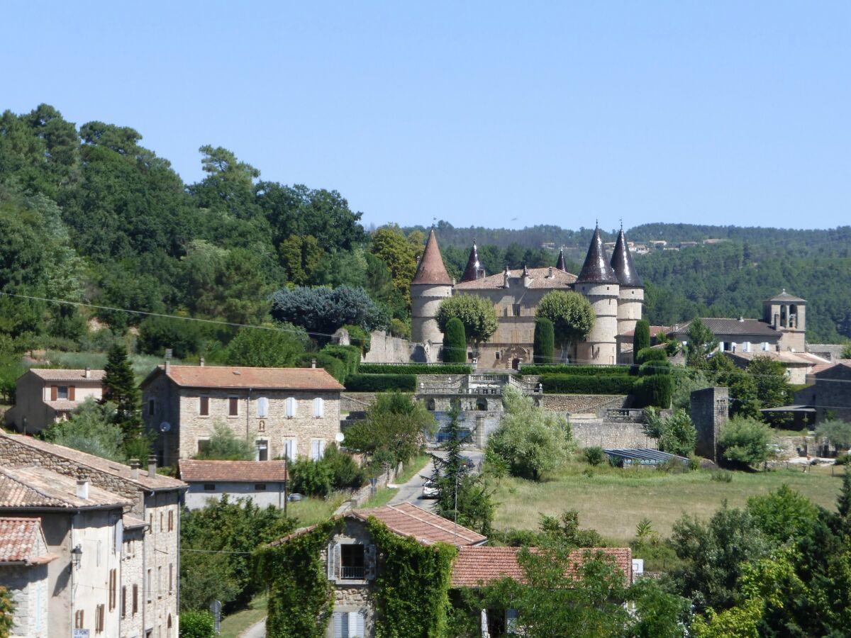
[[[534,551],[534,548],[532,548]],[[461,547],[452,566],[453,587],[479,587],[500,578],[514,578],[523,582],[523,569],[517,563],[519,547]],[[570,566],[566,576],[575,576],[585,555],[603,552],[614,558],[624,573],[626,582],[632,579],[632,550],[629,548],[592,548],[570,553]]]

